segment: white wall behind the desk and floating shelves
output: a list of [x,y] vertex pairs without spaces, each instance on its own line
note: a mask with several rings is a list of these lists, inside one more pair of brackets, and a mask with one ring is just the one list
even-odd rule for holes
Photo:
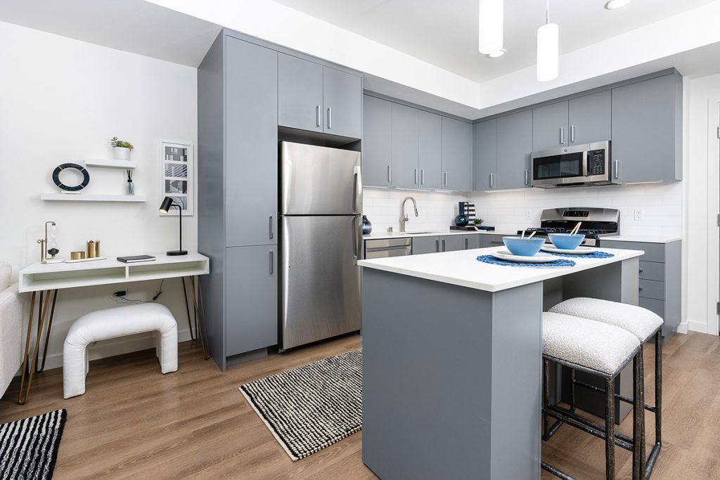
[[[132,35],[132,32],[128,32]],[[177,248],[177,217],[158,217],[158,141],[197,143],[197,71],[194,68],[112,50],[0,22],[0,259],[19,268],[39,261],[36,240],[47,220],[58,224],[61,257],[101,240],[107,256],[157,253]],[[112,158],[109,139],[135,145],[135,190],[145,203],[40,201],[57,191],[51,173],[60,163]],[[89,193],[122,194],[124,171],[89,168]],[[183,224],[184,248],[197,249],[197,217]],[[59,366],[71,322],[93,309],[114,307],[112,291],[148,299],[159,282],[60,291],[48,365]],[[187,320],[178,279],[166,281],[158,300]],[[29,295],[28,295],[29,296]],[[101,343],[93,357],[149,348],[148,338]]]

